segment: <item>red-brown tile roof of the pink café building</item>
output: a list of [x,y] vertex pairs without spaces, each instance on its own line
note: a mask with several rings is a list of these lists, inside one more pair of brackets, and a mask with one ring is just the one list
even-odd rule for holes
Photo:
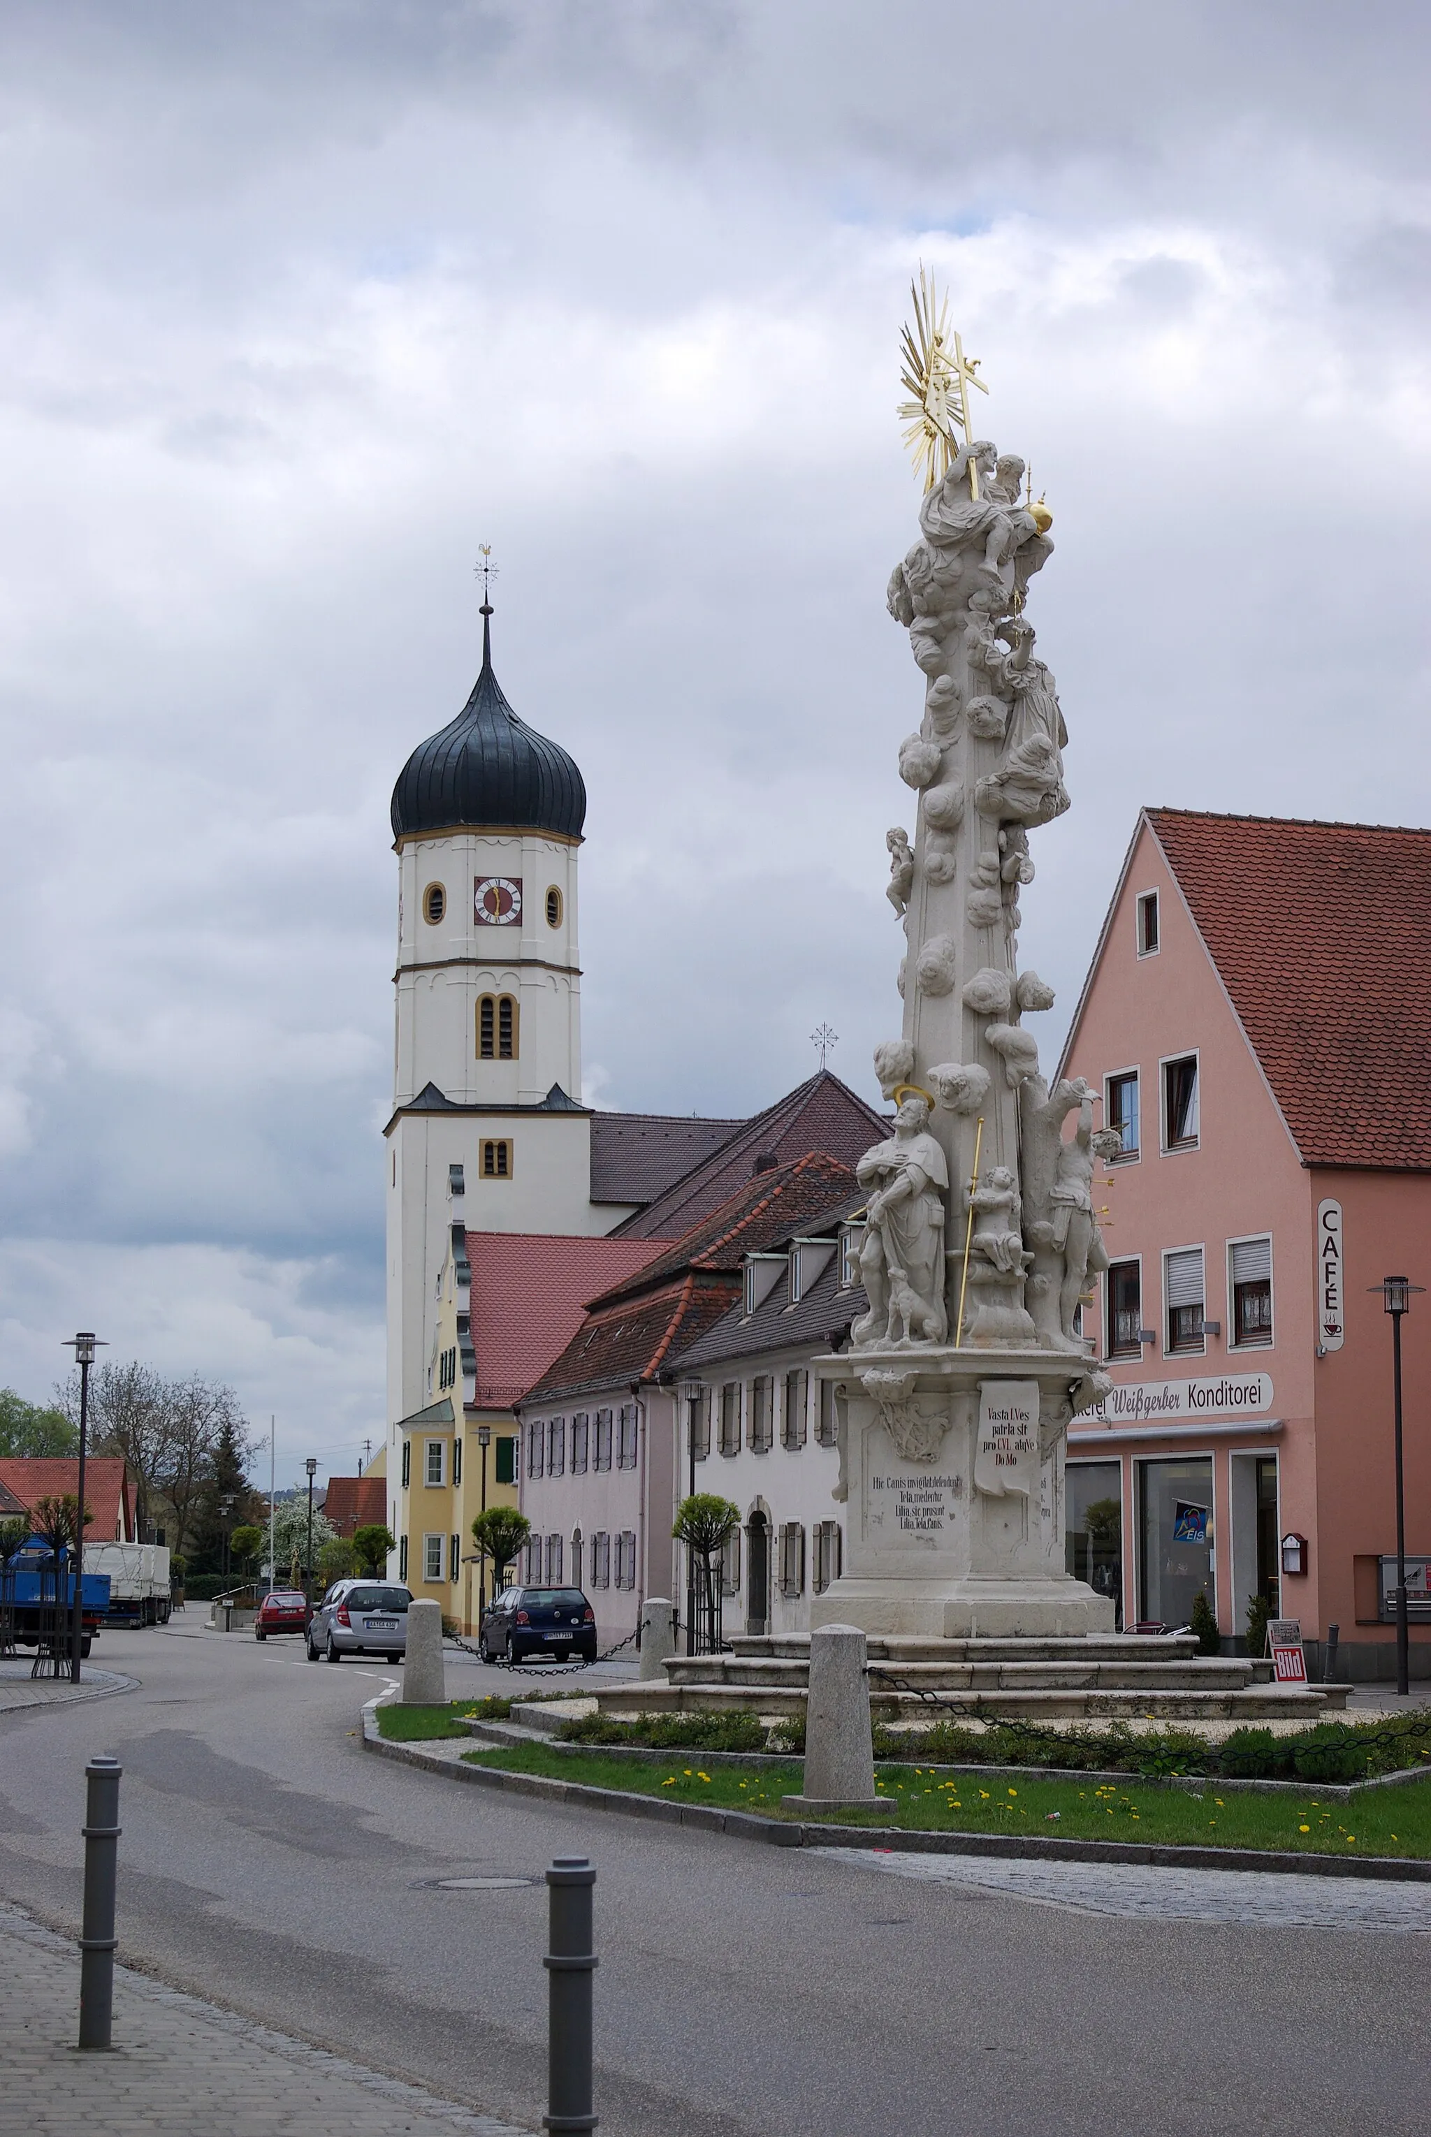
[[1431,1169],[1431,831],[1147,821],[1303,1160]]

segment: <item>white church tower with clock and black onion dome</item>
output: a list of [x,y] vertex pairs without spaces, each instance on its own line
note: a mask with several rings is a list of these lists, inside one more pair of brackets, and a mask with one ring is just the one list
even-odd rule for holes
[[573,759],[503,697],[483,600],[473,695],[413,750],[391,799],[389,1423],[430,1400],[430,1301],[458,1210],[473,1231],[601,1233],[620,1218],[590,1203],[578,966],[584,816]]

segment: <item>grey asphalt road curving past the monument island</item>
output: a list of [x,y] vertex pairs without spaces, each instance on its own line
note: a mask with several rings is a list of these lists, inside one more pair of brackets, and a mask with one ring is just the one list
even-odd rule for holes
[[[372,1759],[357,1710],[381,1663],[308,1665],[295,1641],[199,1626],[107,1635],[101,1658],[141,1690],[0,1714],[0,1891],[75,1925],[83,1761],[116,1750],[122,1957],[528,2128],[545,2105],[539,1881],[558,1853],[599,1870],[610,2137],[1425,2122],[1427,1940],[1341,1923],[1335,1885],[1309,1925],[1279,1919],[1273,1878],[1206,1872],[1206,1906],[1232,1919],[1181,1919],[1147,1891],[1123,1910],[1127,1881],[1102,1866],[1025,1891],[890,1876]],[[492,1680],[449,1667],[453,1697]],[[533,1883],[443,1891],[451,1876]],[[1243,1885],[1262,1898],[1236,1919]]]

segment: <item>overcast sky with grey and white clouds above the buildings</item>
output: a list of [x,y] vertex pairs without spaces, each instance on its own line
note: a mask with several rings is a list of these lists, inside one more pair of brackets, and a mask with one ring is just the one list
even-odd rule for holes
[[1076,998],[1140,804],[1427,823],[1427,11],[6,0],[0,1383],[383,1434],[406,752],[580,761],[588,1096],[896,1030],[922,259],[1033,464]]

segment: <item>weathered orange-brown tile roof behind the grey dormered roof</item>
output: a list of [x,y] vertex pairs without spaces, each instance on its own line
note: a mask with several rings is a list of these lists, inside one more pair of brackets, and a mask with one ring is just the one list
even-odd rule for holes
[[824,1150],[747,1180],[719,1210],[622,1284],[593,1299],[580,1331],[533,1385],[528,1402],[652,1381],[740,1297],[740,1261],[856,1192]]

